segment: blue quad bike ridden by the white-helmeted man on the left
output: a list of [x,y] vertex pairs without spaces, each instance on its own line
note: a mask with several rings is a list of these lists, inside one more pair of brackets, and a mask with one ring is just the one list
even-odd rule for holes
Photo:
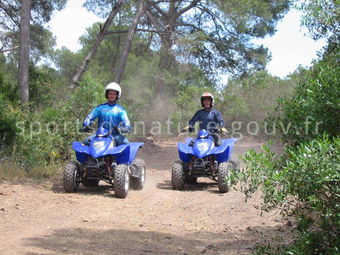
[[142,159],[136,158],[143,145],[135,142],[116,146],[110,131],[102,127],[97,129],[89,146],[73,142],[77,162],[71,161],[65,166],[64,190],[76,192],[80,183],[96,187],[100,180],[113,184],[118,198],[125,198],[130,186],[143,189],[146,167]]

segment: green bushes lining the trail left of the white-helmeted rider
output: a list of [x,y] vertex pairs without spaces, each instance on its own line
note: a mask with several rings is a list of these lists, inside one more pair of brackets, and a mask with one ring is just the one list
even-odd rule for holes
[[[51,87],[54,86],[51,84]],[[50,92],[54,97],[54,91]],[[45,102],[41,109],[35,103],[14,107],[2,98],[4,96],[0,94],[0,129],[6,129],[6,132],[0,135],[3,145],[0,153],[8,161],[15,162],[13,168],[24,169],[27,176],[34,178],[53,175],[55,166],[74,156],[71,144],[83,139],[77,132],[82,121],[93,107],[105,99],[103,86],[90,79],[85,79],[72,95],[59,101]],[[0,175],[11,176],[8,171]]]

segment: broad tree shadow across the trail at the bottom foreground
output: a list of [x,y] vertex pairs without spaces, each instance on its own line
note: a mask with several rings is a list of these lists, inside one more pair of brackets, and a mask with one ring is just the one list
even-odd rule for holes
[[[60,229],[49,236],[25,240],[25,247],[43,254],[249,254],[259,237],[272,227],[258,227],[241,235],[232,232],[167,234],[143,230]],[[33,249],[33,250],[35,250]],[[26,255],[41,254],[27,252]]]

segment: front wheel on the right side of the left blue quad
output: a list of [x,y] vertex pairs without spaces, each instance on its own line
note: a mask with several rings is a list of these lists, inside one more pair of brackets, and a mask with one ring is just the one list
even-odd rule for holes
[[130,173],[126,164],[119,164],[114,173],[113,189],[116,197],[126,198],[130,188]]

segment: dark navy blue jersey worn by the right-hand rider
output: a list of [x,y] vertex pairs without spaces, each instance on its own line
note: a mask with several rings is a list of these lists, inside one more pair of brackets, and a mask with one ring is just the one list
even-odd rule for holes
[[214,132],[216,128],[225,126],[222,114],[216,109],[211,109],[210,111],[205,109],[198,110],[189,121],[189,126],[193,127],[197,121],[200,129],[206,129],[209,132]]

